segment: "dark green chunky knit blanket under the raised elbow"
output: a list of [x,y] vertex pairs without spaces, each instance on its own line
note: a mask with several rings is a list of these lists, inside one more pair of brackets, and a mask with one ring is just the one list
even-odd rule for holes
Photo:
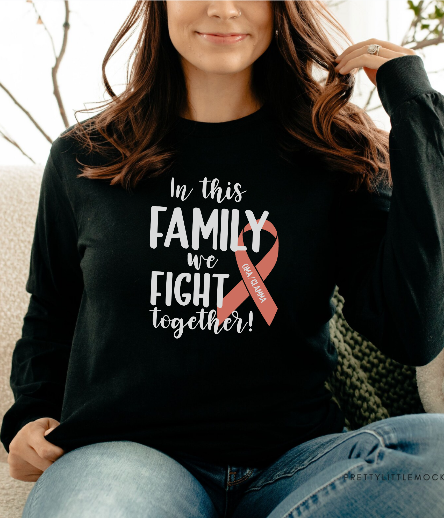
[[325,386],[345,414],[347,428],[355,430],[395,415],[424,413],[416,369],[385,356],[347,324],[337,286],[332,301],[336,313],[330,320],[330,335],[338,350],[338,365]]

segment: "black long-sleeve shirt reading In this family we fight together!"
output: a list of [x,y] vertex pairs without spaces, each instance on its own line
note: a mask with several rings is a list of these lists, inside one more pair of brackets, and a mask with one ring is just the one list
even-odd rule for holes
[[87,157],[56,139],[6,450],[40,417],[61,422],[46,438],[66,451],[126,439],[250,466],[339,432],[324,387],[336,285],[383,353],[431,362],[444,347],[444,96],[418,55],[384,63],[377,88],[393,178],[377,193],[343,192],[304,151],[282,160],[266,105],[179,118],[173,168],[131,193],[77,178]]

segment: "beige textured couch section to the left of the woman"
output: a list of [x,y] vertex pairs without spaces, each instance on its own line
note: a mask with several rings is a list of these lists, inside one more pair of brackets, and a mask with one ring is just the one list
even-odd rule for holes
[[[42,166],[0,168],[0,423],[13,404],[9,386],[12,350],[21,336],[30,300],[25,290]],[[9,476],[8,454],[0,444],[0,516],[20,518],[34,482]]]

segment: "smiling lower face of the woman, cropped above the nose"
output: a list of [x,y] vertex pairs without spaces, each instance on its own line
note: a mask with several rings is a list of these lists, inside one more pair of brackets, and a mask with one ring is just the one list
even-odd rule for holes
[[[273,11],[271,2],[265,0],[167,0],[166,6],[169,36],[182,64],[190,63],[208,73],[244,70],[265,52],[273,38]],[[238,9],[241,14],[234,18]]]

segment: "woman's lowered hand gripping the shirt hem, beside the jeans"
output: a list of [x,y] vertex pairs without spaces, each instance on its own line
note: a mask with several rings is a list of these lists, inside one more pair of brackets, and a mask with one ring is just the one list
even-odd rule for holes
[[45,436],[59,426],[52,418],[40,418],[25,424],[9,444],[9,474],[13,479],[35,482],[65,451]]

